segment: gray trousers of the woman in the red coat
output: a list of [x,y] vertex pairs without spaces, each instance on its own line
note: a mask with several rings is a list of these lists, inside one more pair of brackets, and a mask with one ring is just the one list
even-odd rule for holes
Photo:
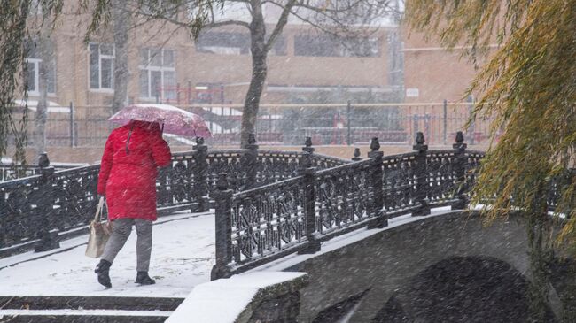
[[128,240],[132,225],[136,225],[136,271],[147,272],[152,252],[152,221],[147,219],[115,219],[112,222],[112,235],[106,243],[102,259],[111,264]]

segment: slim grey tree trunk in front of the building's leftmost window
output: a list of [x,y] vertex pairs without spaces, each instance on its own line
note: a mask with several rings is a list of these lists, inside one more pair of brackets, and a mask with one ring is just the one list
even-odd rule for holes
[[[46,151],[46,119],[48,117],[48,77],[53,64],[50,27],[43,26],[37,42],[38,53],[42,62],[38,69],[38,105],[35,112],[34,142],[36,156]],[[56,77],[56,76],[54,76]]]

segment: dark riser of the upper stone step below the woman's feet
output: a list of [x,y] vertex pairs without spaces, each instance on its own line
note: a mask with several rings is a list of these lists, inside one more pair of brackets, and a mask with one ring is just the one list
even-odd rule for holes
[[3,310],[175,311],[181,297],[0,296]]

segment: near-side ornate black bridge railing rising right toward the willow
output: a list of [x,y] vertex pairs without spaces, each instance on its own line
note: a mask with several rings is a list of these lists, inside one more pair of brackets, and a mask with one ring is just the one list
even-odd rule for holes
[[[416,135],[413,152],[384,157],[377,138],[368,158],[319,170],[313,149],[300,157],[299,176],[234,192],[220,173],[216,204],[216,265],[212,278],[228,277],[284,255],[309,253],[320,242],[359,227],[386,227],[401,214],[430,214],[432,207],[463,209],[483,152],[466,150],[462,133],[453,150],[432,150]],[[316,164],[315,164],[316,163]]]

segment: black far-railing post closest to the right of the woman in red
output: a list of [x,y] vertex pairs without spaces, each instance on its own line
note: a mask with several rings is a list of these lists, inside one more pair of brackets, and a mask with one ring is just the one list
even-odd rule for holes
[[210,205],[208,199],[208,163],[206,161],[208,146],[204,144],[204,138],[196,138],[196,146],[192,150],[194,151],[192,196],[198,201],[198,208],[192,211],[205,212],[210,209]]

